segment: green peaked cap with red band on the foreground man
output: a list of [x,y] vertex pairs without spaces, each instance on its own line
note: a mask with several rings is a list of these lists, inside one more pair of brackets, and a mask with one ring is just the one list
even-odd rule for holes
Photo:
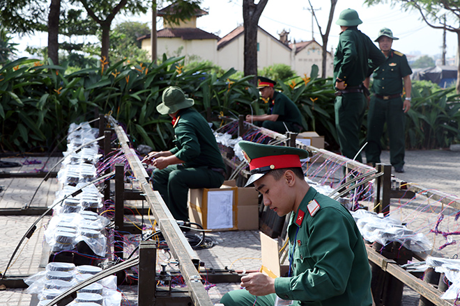
[[251,176],[245,186],[256,182],[271,170],[302,167],[300,159],[308,157],[308,152],[298,147],[262,145],[245,140],[241,140],[238,145],[250,165]]

